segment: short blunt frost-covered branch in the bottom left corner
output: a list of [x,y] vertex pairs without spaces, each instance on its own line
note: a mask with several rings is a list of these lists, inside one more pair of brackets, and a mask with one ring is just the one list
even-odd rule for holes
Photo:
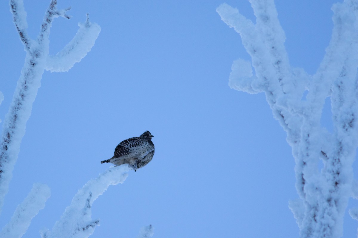
[[50,188],[45,184],[35,183],[28,196],[16,207],[13,217],[1,230],[0,237],[19,238],[25,234],[32,218],[45,207],[50,197]]

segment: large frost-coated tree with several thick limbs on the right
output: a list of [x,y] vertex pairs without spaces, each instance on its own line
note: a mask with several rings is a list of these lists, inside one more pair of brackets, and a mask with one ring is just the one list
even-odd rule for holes
[[[232,65],[230,87],[265,92],[275,118],[287,132],[295,157],[299,199],[290,201],[301,237],[342,236],[343,216],[352,196],[358,145],[358,1],[335,4],[334,29],[326,55],[313,76],[289,65],[285,35],[273,0],[250,0],[256,24],[237,9],[222,4],[217,12],[240,33],[251,64]],[[308,90],[306,100],[301,100]],[[325,98],[331,96],[334,132],[321,128]],[[318,162],[324,164],[319,171]],[[357,210],[351,210],[352,217]]]

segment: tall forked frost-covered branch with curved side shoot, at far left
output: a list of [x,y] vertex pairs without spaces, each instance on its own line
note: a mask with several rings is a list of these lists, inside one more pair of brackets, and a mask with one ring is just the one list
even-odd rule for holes
[[[55,17],[59,16],[69,19],[70,16],[66,14],[69,9],[68,7],[58,10],[57,1],[52,0],[45,12],[37,40],[32,40],[26,32],[27,22],[23,1],[10,0],[10,11],[13,14],[14,25],[19,33],[20,40],[24,44],[26,57],[13,100],[4,118],[3,132],[0,138],[0,211],[3,207],[4,196],[8,192],[12,171],[18,158],[20,142],[25,135],[26,122],[30,117],[32,104],[40,87],[42,74],[47,69],[49,34],[52,22]],[[79,62],[91,50],[97,39],[100,27],[97,24],[89,22],[88,16],[83,25],[83,27],[80,26],[78,31],[80,33],[76,34],[74,39],[68,44],[70,49],[67,49],[67,52],[71,52],[71,54],[66,59],[59,59],[73,62],[65,67],[65,71],[69,70],[74,62]],[[52,61],[52,65],[56,64],[55,61],[56,59]]]

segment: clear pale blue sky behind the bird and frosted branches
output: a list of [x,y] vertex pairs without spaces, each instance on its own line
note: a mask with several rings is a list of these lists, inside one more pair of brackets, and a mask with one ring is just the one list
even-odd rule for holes
[[[255,21],[248,1],[226,1]],[[332,32],[335,1],[276,1],[291,65],[314,74]],[[153,135],[153,160],[92,207],[91,237],[298,237],[288,208],[294,158],[263,93],[228,87],[231,64],[250,60],[240,35],[217,14],[223,1],[69,1],[71,20],[54,20],[50,53],[72,39],[77,22],[101,26],[91,52],[65,73],[44,72],[0,216],[1,227],[34,182],[51,197],[23,237],[51,229],[79,188],[108,168],[122,140]],[[36,38],[48,0],[24,2]],[[25,51],[8,2],[0,2],[0,106],[4,119]],[[329,105],[322,125],[330,129]],[[354,164],[355,168],[357,163]],[[350,204],[357,202],[350,200]],[[344,221],[344,237],[357,223]]]

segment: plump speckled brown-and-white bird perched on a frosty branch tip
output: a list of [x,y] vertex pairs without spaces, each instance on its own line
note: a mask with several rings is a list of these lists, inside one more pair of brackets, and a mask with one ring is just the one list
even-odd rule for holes
[[151,141],[154,137],[149,131],[145,131],[139,137],[132,137],[122,141],[114,150],[110,159],[101,161],[117,165],[128,164],[131,169],[137,171],[149,163],[154,155],[154,144]]

